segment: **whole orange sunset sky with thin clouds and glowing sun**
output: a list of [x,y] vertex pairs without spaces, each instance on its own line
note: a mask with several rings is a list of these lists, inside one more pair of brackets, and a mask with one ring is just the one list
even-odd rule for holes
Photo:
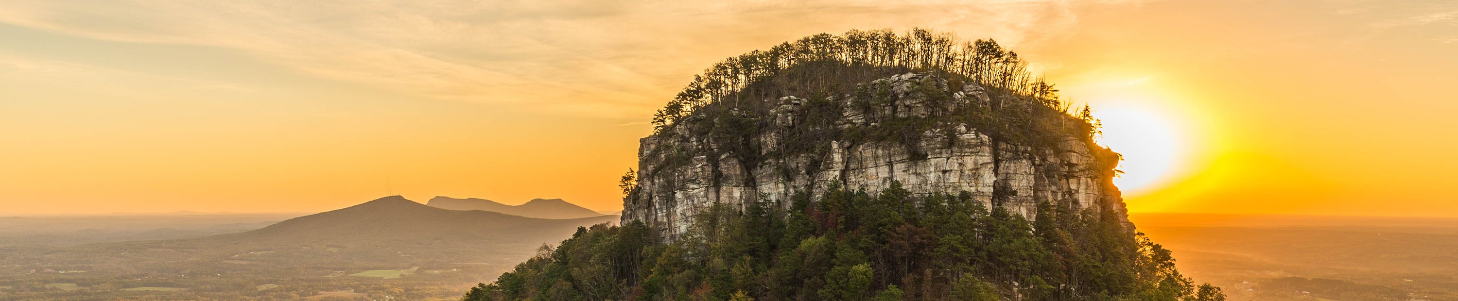
[[0,214],[615,209],[647,116],[698,70],[926,26],[1092,103],[1131,211],[1458,217],[1458,4],[897,3],[6,1]]

